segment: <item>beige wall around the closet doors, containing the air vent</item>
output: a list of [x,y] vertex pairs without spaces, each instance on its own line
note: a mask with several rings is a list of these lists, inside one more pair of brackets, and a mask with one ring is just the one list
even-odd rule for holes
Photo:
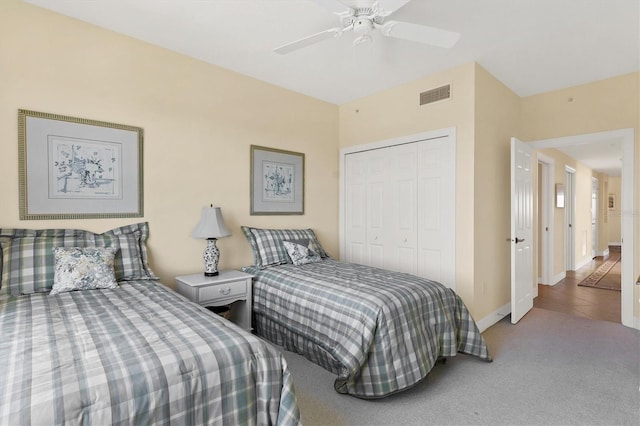
[[[474,86],[469,63],[340,106],[340,147],[456,128],[456,291],[473,313]],[[428,89],[451,84],[451,98],[419,105]]]

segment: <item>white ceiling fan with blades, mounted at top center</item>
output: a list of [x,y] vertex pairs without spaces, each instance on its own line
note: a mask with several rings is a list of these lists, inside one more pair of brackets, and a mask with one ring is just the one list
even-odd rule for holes
[[282,45],[274,49],[276,53],[290,53],[322,40],[339,37],[347,31],[353,31],[358,35],[354,40],[354,44],[356,45],[372,41],[371,32],[375,30],[379,30],[382,35],[387,37],[411,40],[444,48],[453,47],[460,38],[460,34],[440,28],[386,20],[386,18],[411,0],[313,1],[335,13],[340,20],[340,26]]

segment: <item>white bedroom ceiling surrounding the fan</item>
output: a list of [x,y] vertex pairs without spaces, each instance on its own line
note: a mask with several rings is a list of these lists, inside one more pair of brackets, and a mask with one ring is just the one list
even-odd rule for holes
[[337,105],[471,61],[520,96],[640,70],[638,0],[412,0],[392,18],[460,41],[345,33],[287,55],[273,49],[337,26],[327,0],[24,1]]

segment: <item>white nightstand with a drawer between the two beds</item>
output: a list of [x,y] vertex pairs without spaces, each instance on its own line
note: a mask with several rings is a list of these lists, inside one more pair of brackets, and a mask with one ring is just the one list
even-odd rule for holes
[[[178,293],[202,306],[231,305],[231,321],[251,331],[253,275],[228,270],[215,277],[203,273],[176,277]],[[236,303],[234,303],[236,302]]]

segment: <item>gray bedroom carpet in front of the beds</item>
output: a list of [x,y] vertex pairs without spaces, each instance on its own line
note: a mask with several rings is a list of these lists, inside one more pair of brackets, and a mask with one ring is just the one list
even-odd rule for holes
[[458,355],[375,401],[336,393],[331,373],[284,355],[307,426],[640,424],[639,332],[534,308],[484,336],[493,363]]

